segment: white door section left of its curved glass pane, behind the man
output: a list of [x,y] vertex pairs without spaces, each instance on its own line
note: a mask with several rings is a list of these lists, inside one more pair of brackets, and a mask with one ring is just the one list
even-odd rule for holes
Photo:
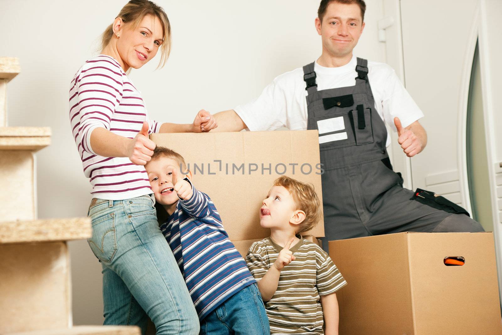
[[[427,148],[413,157],[413,187],[469,207],[461,180],[461,110],[466,107],[475,35],[472,0],[401,1],[406,88],[423,110]],[[460,19],[461,18],[461,19]],[[458,21],[461,20],[461,24]],[[470,57],[469,57],[470,56]],[[469,208],[468,208],[469,209]]]

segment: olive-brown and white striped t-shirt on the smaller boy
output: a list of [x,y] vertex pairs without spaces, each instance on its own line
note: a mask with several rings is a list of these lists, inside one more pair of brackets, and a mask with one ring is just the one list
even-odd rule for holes
[[[270,237],[255,242],[246,256],[247,267],[260,281],[283,247]],[[300,239],[290,248],[295,260],[281,271],[276,293],[265,308],[272,334],[323,334],[321,295],[338,291],[347,282],[318,245]]]

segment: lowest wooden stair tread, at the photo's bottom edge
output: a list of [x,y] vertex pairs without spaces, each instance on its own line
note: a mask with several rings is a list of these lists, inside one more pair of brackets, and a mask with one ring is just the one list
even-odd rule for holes
[[71,328],[15,332],[6,335],[140,335],[137,326],[80,325]]

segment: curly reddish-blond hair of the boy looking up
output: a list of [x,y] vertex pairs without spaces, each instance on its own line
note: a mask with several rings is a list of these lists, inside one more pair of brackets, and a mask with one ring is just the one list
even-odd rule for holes
[[321,218],[321,208],[319,197],[314,186],[303,183],[288,176],[281,176],[274,181],[274,186],[283,186],[293,196],[298,206],[297,209],[305,212],[305,219],[298,225],[296,234],[301,234],[311,230],[317,225]]

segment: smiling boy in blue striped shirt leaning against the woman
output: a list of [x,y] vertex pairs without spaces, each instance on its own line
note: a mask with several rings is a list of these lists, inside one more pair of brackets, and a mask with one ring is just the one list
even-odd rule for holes
[[228,240],[206,193],[197,190],[183,157],[157,147],[145,165],[155,200],[169,217],[161,230],[178,262],[200,319],[200,333],[270,334],[260,291]]

